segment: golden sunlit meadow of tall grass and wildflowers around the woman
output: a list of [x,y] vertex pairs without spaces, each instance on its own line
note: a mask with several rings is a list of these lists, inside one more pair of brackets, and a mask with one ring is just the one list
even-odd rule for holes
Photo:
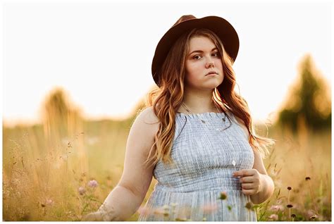
[[[95,211],[120,180],[131,123],[3,127],[3,219],[80,220]],[[330,130],[271,127],[269,137],[276,145],[264,163],[276,189],[255,207],[258,220],[331,220]]]

